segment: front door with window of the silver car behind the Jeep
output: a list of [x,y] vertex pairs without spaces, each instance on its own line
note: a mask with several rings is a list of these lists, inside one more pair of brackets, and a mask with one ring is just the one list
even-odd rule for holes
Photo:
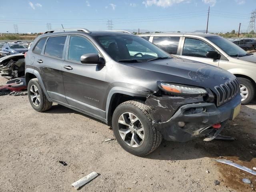
[[[198,61],[214,66],[219,66],[219,60],[206,57],[208,51],[217,51],[214,47],[198,38],[183,37],[180,57]],[[217,51],[218,52],[218,51]]]

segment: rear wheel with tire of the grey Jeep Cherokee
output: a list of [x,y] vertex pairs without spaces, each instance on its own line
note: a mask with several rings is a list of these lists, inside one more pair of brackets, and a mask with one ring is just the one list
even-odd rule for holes
[[28,100],[34,110],[38,112],[49,110],[52,107],[52,102],[46,98],[37,78],[28,82]]

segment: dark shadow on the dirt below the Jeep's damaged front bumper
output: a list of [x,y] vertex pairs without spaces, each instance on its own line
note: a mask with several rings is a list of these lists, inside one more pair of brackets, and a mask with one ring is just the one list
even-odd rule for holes
[[[255,104],[250,104],[255,106]],[[250,114],[250,116],[249,116]],[[152,154],[145,158],[158,160],[191,160],[203,157],[218,158],[219,156],[237,157],[250,162],[256,158],[256,108],[242,107],[241,114],[235,121],[229,121],[222,135],[235,137],[235,141],[212,140],[203,141],[198,138],[186,143],[163,140]]]

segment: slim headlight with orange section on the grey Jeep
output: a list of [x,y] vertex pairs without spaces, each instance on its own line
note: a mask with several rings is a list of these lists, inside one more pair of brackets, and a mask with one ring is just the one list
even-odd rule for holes
[[207,91],[203,88],[186,86],[181,84],[160,82],[158,86],[161,90],[165,92],[170,92],[172,94],[178,95],[204,95]]

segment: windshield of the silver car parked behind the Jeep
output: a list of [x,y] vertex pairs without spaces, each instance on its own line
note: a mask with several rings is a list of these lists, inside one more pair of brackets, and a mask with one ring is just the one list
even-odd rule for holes
[[212,36],[212,37],[206,37],[206,39],[216,44],[229,56],[245,56],[247,54],[247,52],[244,51],[242,48],[238,47],[236,44],[234,44],[230,40],[227,40],[223,37]]

